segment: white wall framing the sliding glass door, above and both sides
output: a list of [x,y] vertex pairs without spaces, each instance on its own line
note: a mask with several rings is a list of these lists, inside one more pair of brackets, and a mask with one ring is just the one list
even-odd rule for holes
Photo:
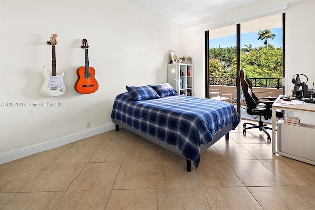
[[[291,3],[290,0],[255,2],[230,11],[215,14],[203,19],[186,23],[183,29],[183,49],[189,49],[194,64],[194,95],[204,97],[204,33],[205,30],[219,26],[240,23],[244,20],[274,14],[283,11],[287,5],[286,20],[286,94],[292,94],[292,76],[302,73],[308,76],[309,88],[315,82],[315,1],[300,1]],[[190,47],[193,49],[190,49]],[[304,77],[302,77],[304,78]]]

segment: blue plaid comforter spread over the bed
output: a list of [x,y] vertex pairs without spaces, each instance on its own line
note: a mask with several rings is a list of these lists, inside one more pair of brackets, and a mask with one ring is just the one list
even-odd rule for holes
[[229,123],[235,129],[240,122],[234,106],[224,101],[183,95],[135,101],[128,92],[116,97],[111,117],[177,146],[195,168],[200,162],[199,146],[212,141]]

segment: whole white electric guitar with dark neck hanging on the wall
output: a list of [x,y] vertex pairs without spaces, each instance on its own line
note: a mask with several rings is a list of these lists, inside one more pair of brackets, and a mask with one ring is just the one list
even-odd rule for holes
[[41,86],[40,93],[46,97],[60,96],[65,93],[65,85],[63,83],[64,72],[57,75],[56,72],[56,53],[55,45],[57,34],[53,34],[47,44],[52,47],[52,71],[47,71],[46,66],[43,67],[44,83]]

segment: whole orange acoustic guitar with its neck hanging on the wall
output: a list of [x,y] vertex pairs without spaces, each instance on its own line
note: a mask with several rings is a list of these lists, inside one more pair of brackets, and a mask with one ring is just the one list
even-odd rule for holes
[[81,94],[90,94],[98,89],[98,82],[95,79],[95,69],[89,66],[88,41],[82,40],[81,48],[85,52],[85,66],[77,69],[78,80],[75,83],[75,90]]

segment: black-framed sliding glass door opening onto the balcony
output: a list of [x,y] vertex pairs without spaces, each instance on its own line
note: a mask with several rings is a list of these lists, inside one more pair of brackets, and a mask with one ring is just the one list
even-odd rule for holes
[[255,88],[268,89],[274,96],[283,93],[284,17],[277,14],[206,31],[206,97],[209,85],[219,86],[222,93],[233,93],[239,111],[241,68]]

